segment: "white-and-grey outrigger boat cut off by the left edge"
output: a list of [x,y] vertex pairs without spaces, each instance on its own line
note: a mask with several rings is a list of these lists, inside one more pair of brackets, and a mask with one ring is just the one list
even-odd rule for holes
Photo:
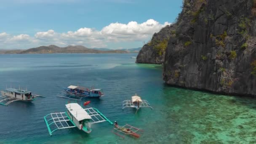
[[16,88],[5,88],[4,91],[1,91],[2,98],[0,100],[0,104],[4,106],[8,106],[14,101],[33,101],[35,97],[45,97],[37,94],[32,94],[31,91],[16,89]]

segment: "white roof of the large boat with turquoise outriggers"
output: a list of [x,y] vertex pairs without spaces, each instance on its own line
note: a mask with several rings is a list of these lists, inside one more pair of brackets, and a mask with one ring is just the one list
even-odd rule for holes
[[91,116],[88,115],[88,113],[77,103],[70,103],[66,104],[67,109],[77,119],[78,121],[80,120],[85,120],[85,119],[91,119]]

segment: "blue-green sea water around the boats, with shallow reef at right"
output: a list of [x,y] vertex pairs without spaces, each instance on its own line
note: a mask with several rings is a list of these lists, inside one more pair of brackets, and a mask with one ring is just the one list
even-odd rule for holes
[[[173,88],[162,80],[162,66],[135,64],[130,54],[0,55],[0,89],[23,88],[46,96],[32,102],[0,106],[0,143],[43,144],[246,144],[256,143],[256,99],[221,96]],[[43,117],[65,112],[63,87],[103,89],[91,101],[109,120],[141,128],[139,139],[112,133],[107,122],[93,124],[90,134],[77,128],[50,136]],[[122,110],[122,101],[137,93],[152,105]]]

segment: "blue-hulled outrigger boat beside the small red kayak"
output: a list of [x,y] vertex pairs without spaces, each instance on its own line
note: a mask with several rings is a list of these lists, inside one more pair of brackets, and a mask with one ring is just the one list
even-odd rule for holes
[[[60,95],[61,94],[61,95]],[[75,85],[69,85],[69,87],[64,88],[64,91],[61,91],[59,97],[73,100],[81,100],[86,97],[101,97],[104,96],[104,93],[101,89],[94,88],[84,88]]]

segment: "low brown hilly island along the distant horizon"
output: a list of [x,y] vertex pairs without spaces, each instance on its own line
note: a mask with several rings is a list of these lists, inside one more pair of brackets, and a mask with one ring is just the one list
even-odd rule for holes
[[40,46],[27,50],[0,50],[0,54],[23,54],[23,53],[138,53],[141,48],[112,50],[108,48],[86,48],[83,45],[69,45],[58,47],[56,45]]

